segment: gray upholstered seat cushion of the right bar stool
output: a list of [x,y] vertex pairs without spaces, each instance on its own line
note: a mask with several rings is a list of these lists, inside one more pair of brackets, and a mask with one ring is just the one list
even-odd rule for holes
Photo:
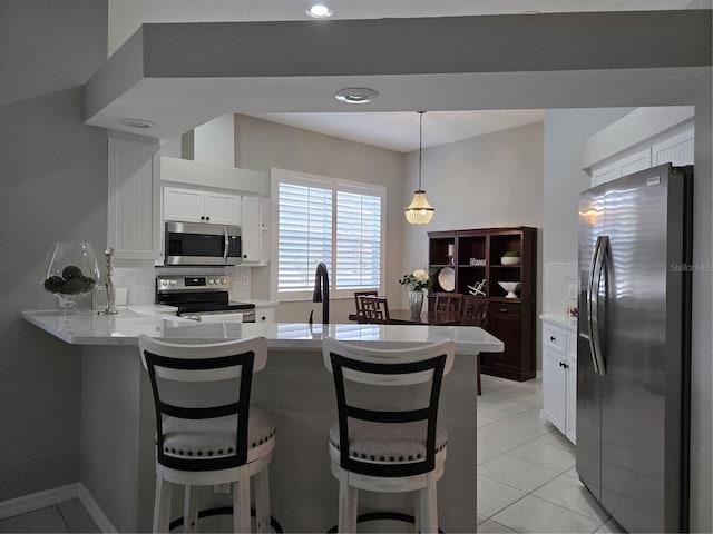
[[[371,423],[361,419],[349,421],[349,455],[362,462],[410,463],[426,457],[426,421],[412,423]],[[330,428],[330,445],[340,449],[339,423]],[[448,433],[436,427],[436,453],[446,448]]]

